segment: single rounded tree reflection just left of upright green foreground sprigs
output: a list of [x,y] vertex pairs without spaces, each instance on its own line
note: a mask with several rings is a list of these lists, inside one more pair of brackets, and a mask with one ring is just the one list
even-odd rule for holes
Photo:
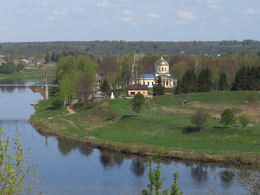
[[147,159],[140,156],[132,157],[130,169],[136,176],[142,176],[145,171],[145,167],[147,167]]

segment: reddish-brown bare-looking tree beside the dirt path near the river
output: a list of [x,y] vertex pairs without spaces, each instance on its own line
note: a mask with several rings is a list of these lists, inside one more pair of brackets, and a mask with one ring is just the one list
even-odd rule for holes
[[85,102],[88,101],[91,94],[94,92],[93,78],[90,75],[84,75],[79,81],[79,95]]

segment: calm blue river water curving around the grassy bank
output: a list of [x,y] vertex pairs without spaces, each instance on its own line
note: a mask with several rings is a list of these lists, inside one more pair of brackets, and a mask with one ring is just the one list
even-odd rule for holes
[[[3,79],[0,82],[31,84],[39,80]],[[19,128],[22,148],[31,148],[33,152],[29,156],[29,164],[38,164],[38,174],[43,177],[39,187],[30,194],[137,195],[140,188],[146,187],[149,183],[147,158],[102,151],[37,132],[26,121],[35,111],[30,104],[39,99],[43,97],[30,89],[0,89],[0,121],[3,128],[10,137]],[[162,189],[170,188],[172,174],[178,172],[178,186],[184,194],[246,194],[243,188],[216,177],[217,173],[227,170],[225,165],[163,160],[161,166],[162,177],[165,178]],[[156,163],[153,164],[155,167]]]

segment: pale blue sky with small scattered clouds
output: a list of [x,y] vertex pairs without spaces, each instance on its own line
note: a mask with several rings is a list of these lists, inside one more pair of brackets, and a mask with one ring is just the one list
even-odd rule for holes
[[2,0],[0,42],[260,40],[259,0]]

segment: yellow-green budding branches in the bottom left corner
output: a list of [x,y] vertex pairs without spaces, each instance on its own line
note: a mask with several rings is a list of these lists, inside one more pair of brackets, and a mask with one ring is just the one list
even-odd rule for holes
[[[19,141],[20,134],[18,128],[16,129],[14,142],[14,155],[9,153],[9,137],[6,138],[6,133],[0,124],[0,194],[12,195],[20,194],[24,188],[27,188],[29,194],[32,188],[38,186],[39,181],[34,182],[34,178],[38,176],[38,165],[26,165],[28,163],[28,155],[32,153],[30,148],[27,153],[24,154]],[[31,175],[30,182],[25,182],[24,179]],[[24,187],[25,186],[25,187]]]

